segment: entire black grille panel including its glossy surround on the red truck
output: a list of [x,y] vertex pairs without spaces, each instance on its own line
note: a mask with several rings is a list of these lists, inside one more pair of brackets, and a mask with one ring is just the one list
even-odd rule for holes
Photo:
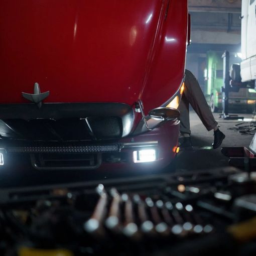
[[[0,138],[28,141],[118,139],[131,133],[134,109],[125,103],[0,104]],[[123,130],[125,127],[125,130]]]

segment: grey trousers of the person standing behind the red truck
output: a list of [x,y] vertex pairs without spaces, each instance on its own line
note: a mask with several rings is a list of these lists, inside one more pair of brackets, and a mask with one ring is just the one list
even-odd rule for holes
[[193,107],[205,128],[210,131],[218,123],[206,102],[204,94],[195,76],[185,70],[185,87],[178,107],[180,110],[180,133],[191,134],[189,122],[189,104]]

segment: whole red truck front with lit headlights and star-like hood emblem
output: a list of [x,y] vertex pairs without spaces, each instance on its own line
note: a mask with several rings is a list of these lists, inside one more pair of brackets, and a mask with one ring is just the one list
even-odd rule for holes
[[187,0],[0,1],[0,169],[168,166],[189,26]]

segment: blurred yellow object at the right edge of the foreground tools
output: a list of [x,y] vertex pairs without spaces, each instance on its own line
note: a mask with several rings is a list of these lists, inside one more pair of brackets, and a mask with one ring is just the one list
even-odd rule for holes
[[256,217],[244,222],[231,225],[227,228],[237,241],[246,242],[256,238]]

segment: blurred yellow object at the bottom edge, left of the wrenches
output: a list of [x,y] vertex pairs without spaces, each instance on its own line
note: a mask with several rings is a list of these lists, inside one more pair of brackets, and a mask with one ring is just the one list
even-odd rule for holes
[[19,256],[74,256],[73,252],[67,249],[37,249],[22,246],[19,248]]

